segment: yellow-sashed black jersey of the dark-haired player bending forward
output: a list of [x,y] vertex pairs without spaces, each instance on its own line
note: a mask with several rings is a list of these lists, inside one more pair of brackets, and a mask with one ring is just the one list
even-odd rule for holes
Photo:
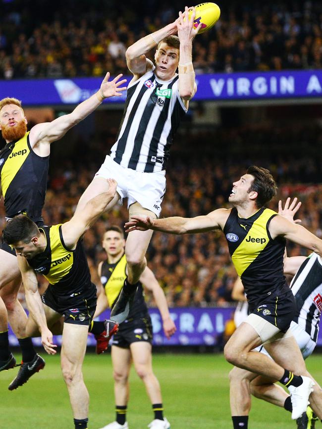
[[76,296],[91,288],[91,275],[82,240],[75,250],[69,250],[61,234],[61,224],[39,228],[45,234],[45,250],[34,258],[27,259],[36,273],[43,274],[59,297]]

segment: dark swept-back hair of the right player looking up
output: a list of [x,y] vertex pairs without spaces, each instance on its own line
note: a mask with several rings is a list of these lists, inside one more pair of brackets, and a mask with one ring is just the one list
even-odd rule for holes
[[257,192],[256,205],[262,207],[276,195],[277,185],[273,176],[267,168],[256,167],[255,165],[248,168],[247,174],[254,176],[254,181],[248,192]]

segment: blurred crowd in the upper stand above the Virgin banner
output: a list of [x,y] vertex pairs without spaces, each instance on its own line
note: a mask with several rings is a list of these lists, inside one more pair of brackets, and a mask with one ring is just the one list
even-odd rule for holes
[[[173,21],[181,4],[151,1],[149,8],[140,8],[138,22],[134,13],[110,1],[98,8],[96,1],[92,8],[77,2],[77,19],[73,0],[64,1],[63,8],[59,1],[50,3],[50,14],[38,8],[38,1],[19,10],[9,3],[0,17],[0,79],[7,80],[103,76],[107,70],[128,74],[126,48]],[[138,1],[132,5],[140,7]],[[194,42],[197,73],[322,67],[320,2],[226,6],[216,26]]]

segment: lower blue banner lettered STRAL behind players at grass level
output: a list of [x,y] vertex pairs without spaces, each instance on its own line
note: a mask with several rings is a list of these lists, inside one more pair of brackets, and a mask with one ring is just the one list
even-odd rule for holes
[[[158,309],[150,308],[149,313],[153,326],[153,344],[155,345],[204,345],[215,346],[221,342],[225,324],[233,316],[235,308],[171,308],[170,315],[177,331],[167,339],[162,329],[162,319]],[[109,311],[101,314],[100,320],[108,319]],[[9,328],[10,345],[18,341]],[[40,338],[33,338],[35,345],[41,346]],[[61,336],[54,337],[54,343],[61,344]],[[319,333],[318,345],[322,346],[322,331]],[[96,345],[93,335],[88,335],[87,344]]]

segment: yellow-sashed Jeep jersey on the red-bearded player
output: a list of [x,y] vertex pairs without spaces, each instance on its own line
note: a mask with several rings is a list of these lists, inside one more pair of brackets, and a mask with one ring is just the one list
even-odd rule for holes
[[0,151],[0,178],[7,217],[25,211],[34,222],[42,221],[48,167],[49,156],[33,151],[29,132],[4,146]]

